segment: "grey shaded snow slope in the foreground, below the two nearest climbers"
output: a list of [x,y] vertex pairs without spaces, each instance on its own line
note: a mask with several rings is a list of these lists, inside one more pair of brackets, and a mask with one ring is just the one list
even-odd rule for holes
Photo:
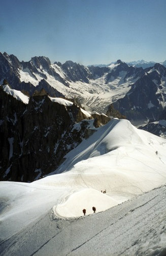
[[152,256],[166,252],[166,187],[73,219],[48,210],[0,244],[1,255]]

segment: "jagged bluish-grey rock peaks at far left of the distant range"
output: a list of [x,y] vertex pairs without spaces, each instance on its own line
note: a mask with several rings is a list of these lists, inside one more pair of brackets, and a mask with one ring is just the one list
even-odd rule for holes
[[[49,75],[52,75],[55,80],[62,83],[64,86],[69,86],[68,81],[61,78],[61,76],[51,66],[50,60],[46,57],[34,57],[31,58],[31,60],[28,62],[19,62],[19,60],[14,55],[0,53],[0,81],[2,79],[7,79],[13,89],[28,91],[28,93],[32,95],[35,90],[40,89],[41,83],[44,82],[38,83],[39,88],[36,88],[30,82],[21,82],[19,73],[20,70],[27,71],[31,78],[35,79],[37,82],[37,74],[41,77],[42,80],[47,79],[47,75],[43,72],[46,71]],[[51,96],[57,94],[57,90],[55,88],[51,87],[47,82],[45,84],[47,84],[45,85],[45,88],[49,91]]]

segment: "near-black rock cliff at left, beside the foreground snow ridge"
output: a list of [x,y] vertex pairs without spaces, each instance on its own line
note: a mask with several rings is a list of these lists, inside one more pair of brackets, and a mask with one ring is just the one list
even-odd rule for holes
[[54,103],[44,89],[26,105],[0,87],[1,180],[31,182],[54,171],[95,131],[89,122],[80,107]]

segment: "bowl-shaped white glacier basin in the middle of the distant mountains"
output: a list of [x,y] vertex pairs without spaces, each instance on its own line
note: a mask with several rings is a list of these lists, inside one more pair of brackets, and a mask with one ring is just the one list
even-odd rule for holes
[[[107,74],[102,76],[102,78],[90,80],[89,84],[80,81],[75,83],[72,82],[70,83],[70,87],[66,89],[65,93],[67,94],[64,94],[60,88],[58,88],[58,90],[69,98],[71,98],[72,95],[75,95],[86,110],[95,110],[101,113],[111,103],[123,98],[131,88],[131,85],[137,81],[137,79],[130,77],[124,82],[123,79],[125,75],[126,72],[122,71],[118,78],[115,79],[112,77],[112,81],[107,84]],[[83,92],[81,91],[81,88],[83,88]]]

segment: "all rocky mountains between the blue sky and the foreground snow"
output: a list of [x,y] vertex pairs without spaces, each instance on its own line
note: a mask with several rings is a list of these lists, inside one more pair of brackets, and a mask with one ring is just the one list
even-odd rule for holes
[[0,178],[27,182],[50,173],[112,117],[149,121],[141,128],[164,137],[166,68],[136,65],[20,62],[0,53]]

